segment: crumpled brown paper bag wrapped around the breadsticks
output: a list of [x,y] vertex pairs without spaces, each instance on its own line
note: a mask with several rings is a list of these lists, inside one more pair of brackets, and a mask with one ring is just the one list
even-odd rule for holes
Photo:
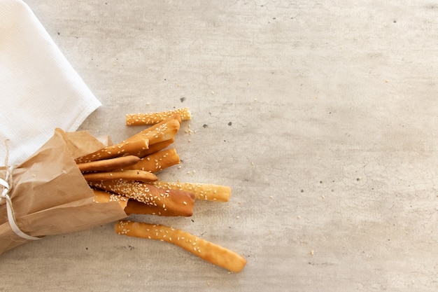
[[[101,148],[88,132],[55,134],[27,161],[13,169],[9,196],[18,227],[44,237],[85,230],[127,215],[118,202],[96,203],[73,158]],[[6,168],[0,169],[6,177]],[[44,240],[44,239],[42,239]],[[28,242],[11,230],[5,200],[0,202],[0,254]]]

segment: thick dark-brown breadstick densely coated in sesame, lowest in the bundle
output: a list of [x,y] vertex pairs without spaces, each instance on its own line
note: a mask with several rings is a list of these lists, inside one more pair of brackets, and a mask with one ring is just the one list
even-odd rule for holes
[[155,206],[164,211],[177,214],[193,214],[195,195],[183,190],[164,190],[139,181],[89,181],[88,184],[99,190],[124,195],[143,204]]

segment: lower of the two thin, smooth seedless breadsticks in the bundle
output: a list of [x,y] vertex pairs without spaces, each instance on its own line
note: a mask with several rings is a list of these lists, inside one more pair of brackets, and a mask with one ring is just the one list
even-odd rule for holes
[[125,181],[157,181],[155,174],[143,170],[125,170],[123,172],[94,172],[84,174],[86,181],[108,181],[108,179],[124,179]]

